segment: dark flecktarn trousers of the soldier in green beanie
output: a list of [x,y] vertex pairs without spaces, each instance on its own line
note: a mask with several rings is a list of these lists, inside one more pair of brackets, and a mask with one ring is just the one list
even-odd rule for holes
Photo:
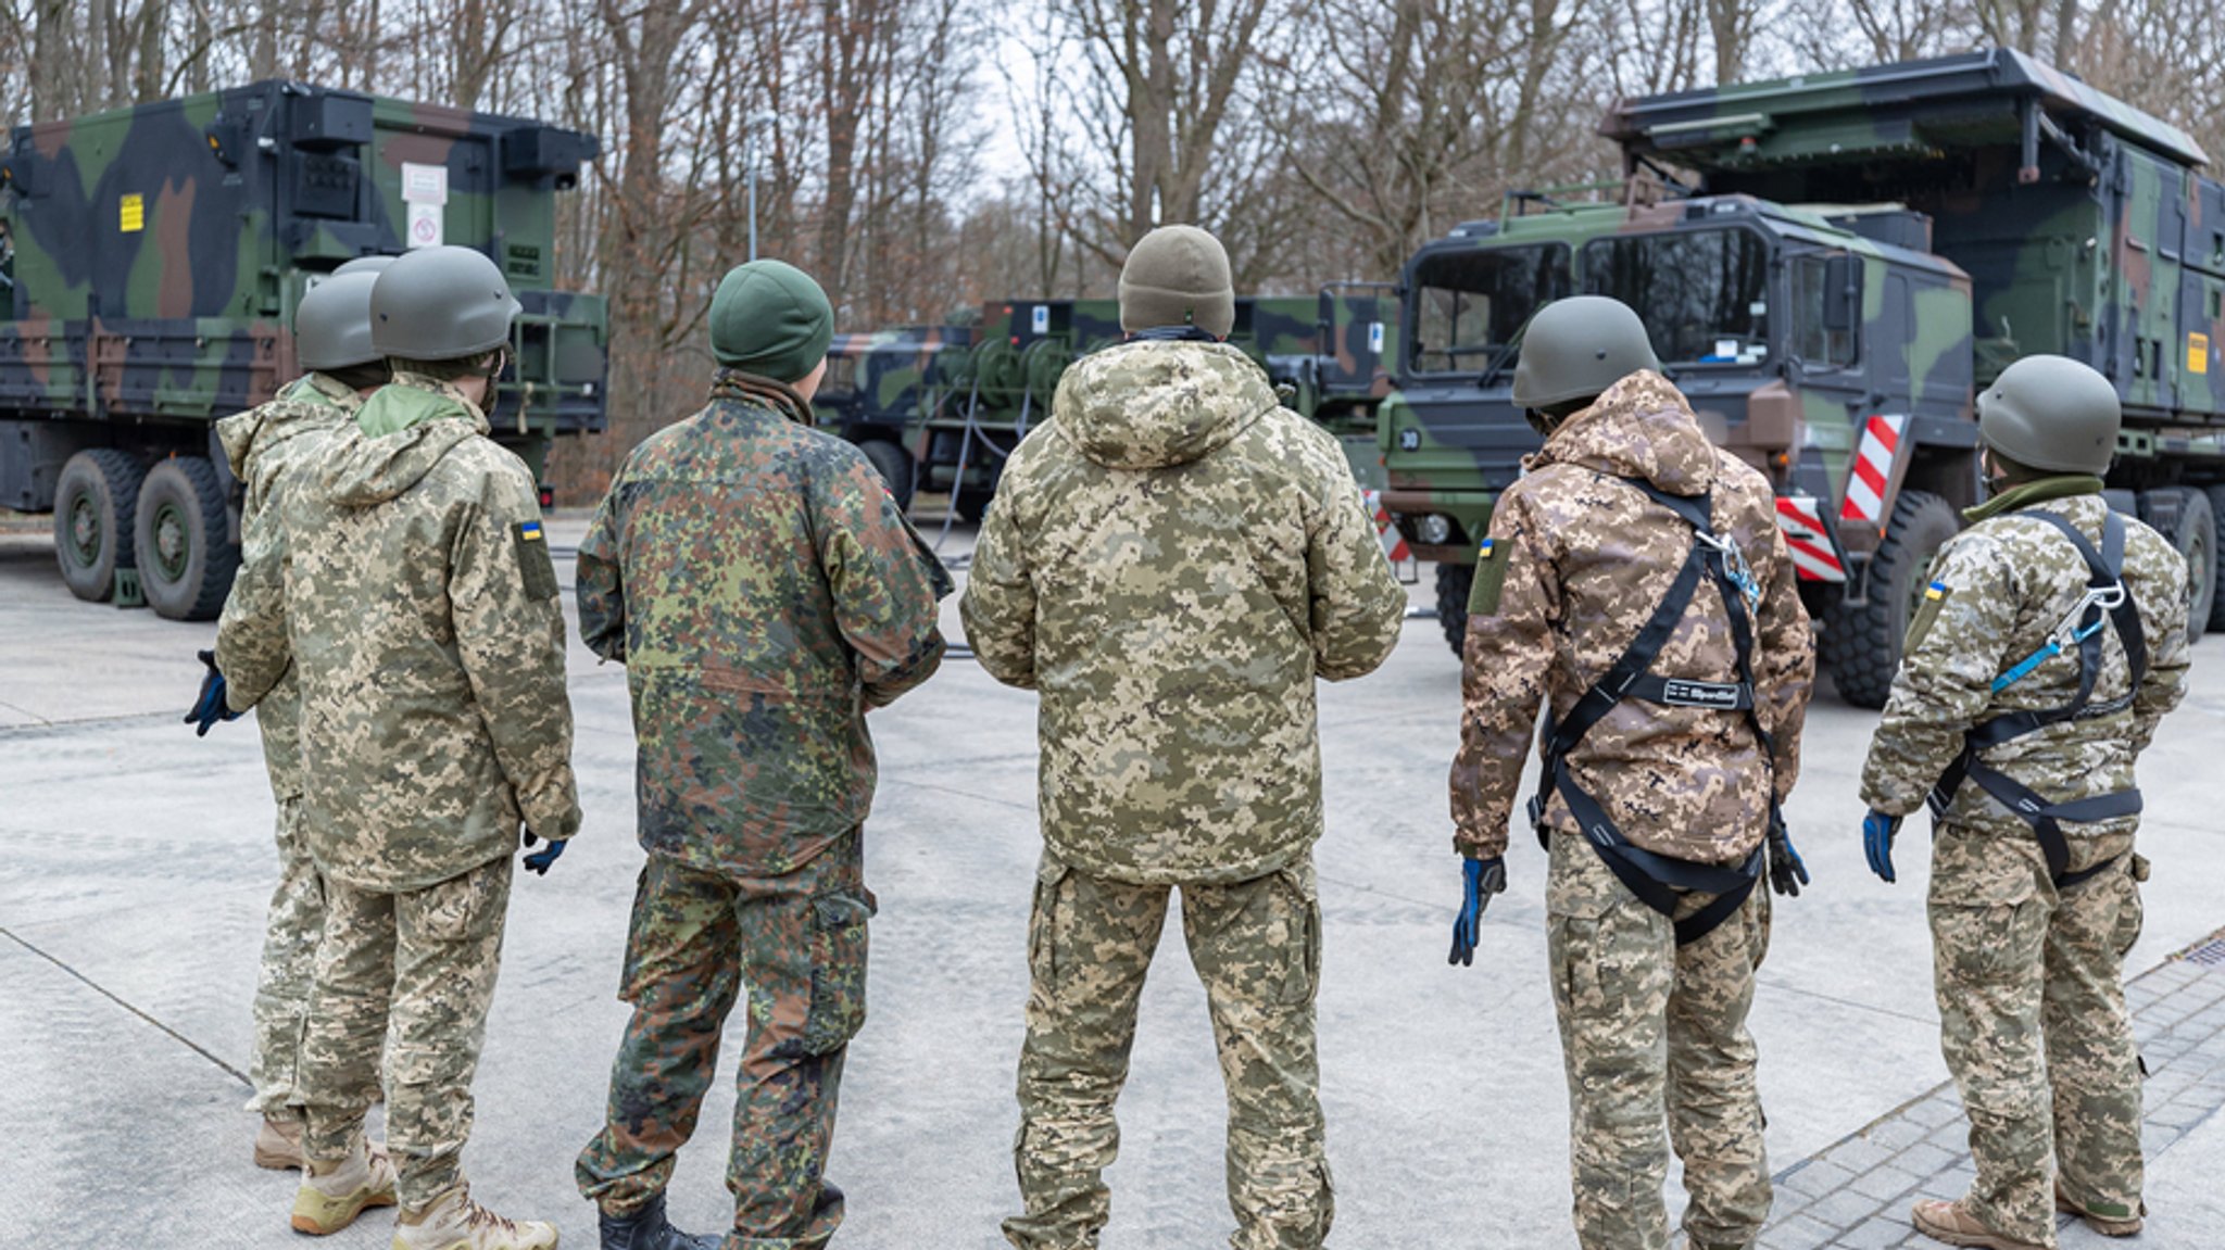
[[730,879],[652,854],[634,890],[619,996],[634,1005],[610,1068],[603,1132],[578,1192],[630,1214],[672,1181],[748,990],[734,1097],[728,1250],[817,1250],[843,1217],[823,1183],[850,1039],[866,1023],[866,890],[857,832],[783,876]]

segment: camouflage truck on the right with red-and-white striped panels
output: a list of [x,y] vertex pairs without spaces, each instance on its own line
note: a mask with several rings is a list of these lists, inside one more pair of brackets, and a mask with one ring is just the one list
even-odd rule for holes
[[1762,469],[1838,692],[1882,707],[1931,554],[1978,500],[1974,387],[2025,354],[2125,403],[2112,503],[2192,563],[2225,516],[2225,187],[2183,131],[2016,51],[1620,100],[1618,202],[1535,198],[1404,271],[1386,503],[1460,647],[1475,543],[1537,445],[1520,329],[1566,294],[1631,302],[1709,436]]

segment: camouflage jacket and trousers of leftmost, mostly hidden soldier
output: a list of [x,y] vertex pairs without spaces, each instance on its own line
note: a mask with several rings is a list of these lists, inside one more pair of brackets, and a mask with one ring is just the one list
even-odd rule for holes
[[[305,374],[267,405],[216,423],[231,474],[243,483],[240,543],[258,552],[271,540],[269,505],[278,485],[314,472],[316,449],[363,403],[354,389]],[[256,976],[256,1050],[249,1110],[300,1114],[298,1065],[309,1014],[316,943],[325,932],[325,883],[303,839],[300,690],[287,672],[256,701],[263,767],[278,803],[278,885],[263,927],[263,968]],[[289,1110],[294,1108],[294,1110]]]

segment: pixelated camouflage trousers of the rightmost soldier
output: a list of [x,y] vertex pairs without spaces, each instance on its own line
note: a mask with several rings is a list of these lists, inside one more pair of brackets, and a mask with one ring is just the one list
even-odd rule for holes
[[[2129,839],[2112,841],[2129,852]],[[2056,1179],[2096,1214],[2136,1214],[2140,1054],[2123,981],[2140,887],[2129,854],[2058,892],[2029,832],[1940,825],[1929,912],[1940,1052],[1978,1165],[1971,1214],[2054,1246]]]

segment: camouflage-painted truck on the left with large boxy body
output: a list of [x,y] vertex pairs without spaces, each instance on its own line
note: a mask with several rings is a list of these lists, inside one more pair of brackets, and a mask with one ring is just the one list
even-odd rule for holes
[[469,245],[525,314],[492,411],[538,472],[603,427],[605,307],[554,289],[556,191],[596,140],[256,82],[18,127],[0,158],[0,507],[53,509],[78,598],[209,618],[238,565],[214,423],[296,376],[294,305],[369,254]]

